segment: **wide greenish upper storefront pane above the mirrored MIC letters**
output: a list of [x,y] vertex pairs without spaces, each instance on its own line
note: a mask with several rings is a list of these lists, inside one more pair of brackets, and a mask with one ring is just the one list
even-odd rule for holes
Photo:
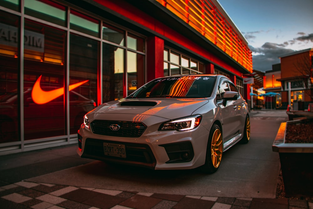
[[50,23],[66,26],[65,7],[49,0],[25,0],[25,14],[48,21]]

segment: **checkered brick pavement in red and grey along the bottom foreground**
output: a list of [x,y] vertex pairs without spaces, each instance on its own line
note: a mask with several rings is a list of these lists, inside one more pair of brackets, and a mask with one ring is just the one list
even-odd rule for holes
[[156,194],[20,181],[0,187],[0,207],[5,209],[313,209],[313,202],[287,198]]

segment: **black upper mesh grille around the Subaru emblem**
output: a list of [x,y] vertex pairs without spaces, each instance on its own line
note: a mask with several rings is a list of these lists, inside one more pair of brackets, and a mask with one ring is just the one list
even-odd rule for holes
[[[146,130],[146,125],[141,122],[94,120],[91,122],[91,130],[95,134],[117,137],[140,137]],[[118,125],[116,131],[111,130],[111,125]]]

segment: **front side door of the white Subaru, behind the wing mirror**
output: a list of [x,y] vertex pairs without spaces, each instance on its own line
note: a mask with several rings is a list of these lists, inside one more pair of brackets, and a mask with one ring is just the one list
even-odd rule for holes
[[221,79],[218,91],[220,98],[217,98],[217,104],[221,108],[222,112],[222,125],[223,125],[223,141],[224,143],[236,135],[237,127],[236,124],[236,102],[234,100],[228,100],[226,105],[223,105],[223,95],[226,91],[230,91],[227,79]]

